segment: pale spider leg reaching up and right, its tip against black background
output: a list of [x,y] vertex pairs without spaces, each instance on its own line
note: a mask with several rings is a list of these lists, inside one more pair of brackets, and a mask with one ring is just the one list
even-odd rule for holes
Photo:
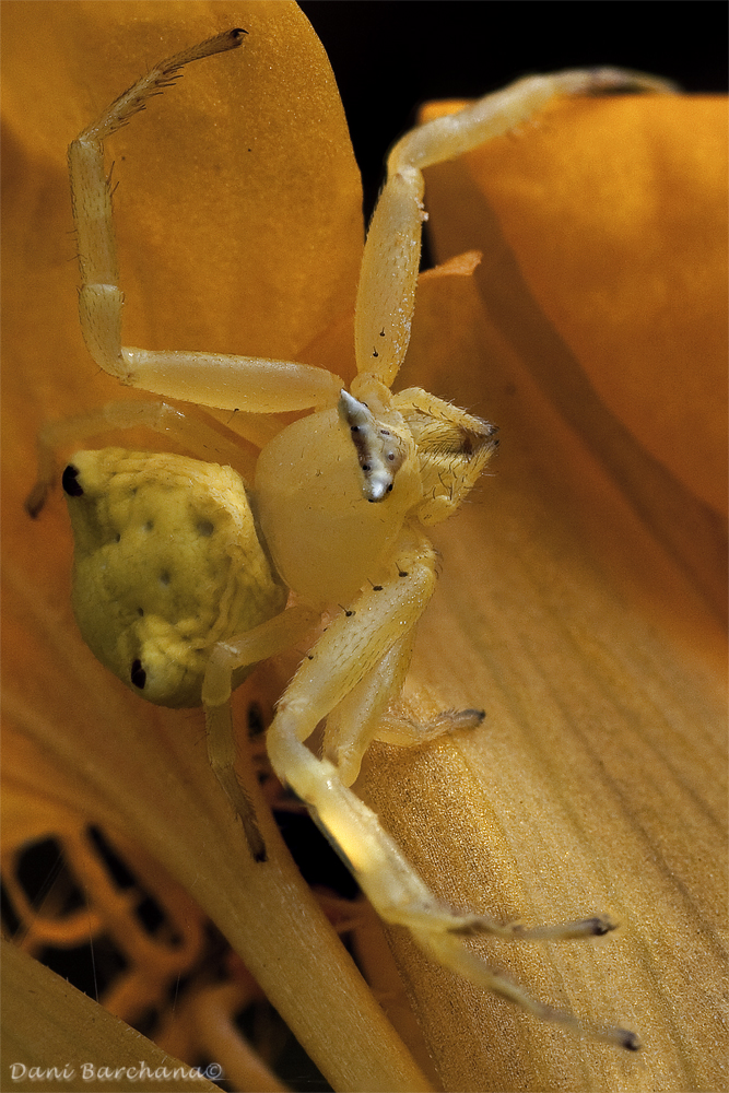
[[410,341],[420,268],[423,169],[455,160],[529,120],[557,95],[631,90],[671,92],[666,81],[620,69],[556,72],[517,80],[458,114],[416,127],[387,161],[387,180],[369,225],[355,314],[357,369],[388,387]]

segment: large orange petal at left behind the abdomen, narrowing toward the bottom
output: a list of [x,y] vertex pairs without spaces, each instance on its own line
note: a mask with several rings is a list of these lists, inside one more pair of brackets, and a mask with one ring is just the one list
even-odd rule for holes
[[[199,713],[139,702],[84,648],[61,498],[36,525],[22,507],[38,426],[120,397],[79,338],[64,146],[145,63],[223,21],[250,32],[243,62],[200,62],[153,104],[158,128],[150,109],[110,152],[126,332],[149,346],[293,355],[351,310],[362,243],[341,103],[295,4],[39,3],[3,16],[3,837],[35,835],[67,809],[124,832],[215,920],[333,1084],[420,1090],[274,828],[266,868],[250,860]],[[238,233],[240,252],[228,249]],[[34,788],[43,808],[13,811]]]

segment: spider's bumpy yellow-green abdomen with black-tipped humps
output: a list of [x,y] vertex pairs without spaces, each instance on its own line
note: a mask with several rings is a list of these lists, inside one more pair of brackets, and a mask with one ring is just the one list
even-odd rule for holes
[[149,701],[198,705],[212,646],[286,600],[243,480],[230,467],[125,448],[78,453],[70,468],[84,640]]

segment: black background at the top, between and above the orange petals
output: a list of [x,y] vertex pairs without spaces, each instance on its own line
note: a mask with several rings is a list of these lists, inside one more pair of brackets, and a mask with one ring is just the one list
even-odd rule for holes
[[369,215],[390,144],[430,98],[601,64],[727,90],[724,0],[302,0],[334,70]]

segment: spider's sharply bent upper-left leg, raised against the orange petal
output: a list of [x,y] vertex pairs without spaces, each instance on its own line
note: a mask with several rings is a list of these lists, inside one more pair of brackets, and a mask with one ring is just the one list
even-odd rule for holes
[[121,344],[124,293],[118,284],[104,141],[143,109],[153,95],[171,86],[185,64],[235,49],[244,33],[228,31],[155,66],[71,143],[69,171],[79,239],[81,329],[99,367],[122,384],[166,398],[254,413],[334,404],[341,381],[324,368],[221,353],[148,352]]

